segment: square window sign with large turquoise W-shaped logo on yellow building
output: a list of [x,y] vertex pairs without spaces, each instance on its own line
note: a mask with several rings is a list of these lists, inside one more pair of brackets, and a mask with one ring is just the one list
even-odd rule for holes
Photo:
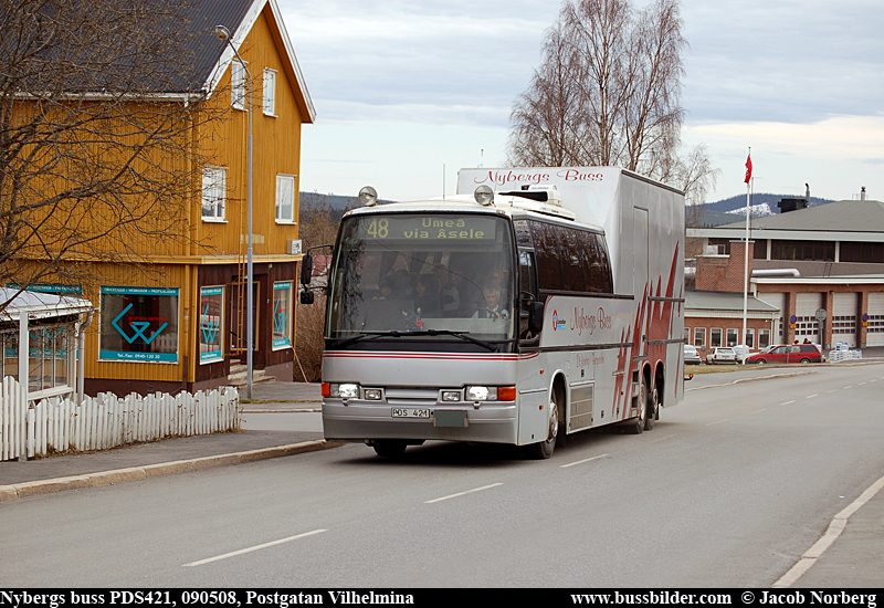
[[99,359],[178,363],[178,290],[102,287]]

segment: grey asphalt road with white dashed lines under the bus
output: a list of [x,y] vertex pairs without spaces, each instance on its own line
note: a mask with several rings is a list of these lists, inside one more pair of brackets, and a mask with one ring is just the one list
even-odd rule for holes
[[814,371],[695,378],[548,461],[355,444],[14,501],[0,587],[769,587],[884,470],[884,366]]

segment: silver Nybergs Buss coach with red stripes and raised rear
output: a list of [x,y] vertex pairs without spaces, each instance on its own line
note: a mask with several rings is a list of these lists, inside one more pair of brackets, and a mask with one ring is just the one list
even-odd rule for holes
[[[457,195],[340,223],[326,295],[325,438],[524,445],[651,430],[684,391],[684,193],[612,167],[462,169]],[[316,283],[319,283],[317,281]]]

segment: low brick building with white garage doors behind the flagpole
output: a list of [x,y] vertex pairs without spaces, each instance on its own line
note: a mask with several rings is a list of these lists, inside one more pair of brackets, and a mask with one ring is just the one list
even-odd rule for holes
[[[749,294],[779,311],[771,343],[884,346],[884,203],[862,195],[810,208],[806,199],[783,199],[780,209],[750,222]],[[745,220],[687,231],[704,251],[696,293],[737,294],[740,327],[745,231]],[[688,297],[686,316],[697,312]],[[715,322],[694,318],[707,331]]]

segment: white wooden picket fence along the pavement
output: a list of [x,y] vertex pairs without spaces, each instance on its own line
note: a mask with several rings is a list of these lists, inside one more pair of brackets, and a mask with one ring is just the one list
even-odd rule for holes
[[29,403],[19,382],[6,377],[0,392],[0,461],[209,434],[239,429],[240,423],[240,396],[233,387],[175,397],[99,394],[81,405],[60,398]]

